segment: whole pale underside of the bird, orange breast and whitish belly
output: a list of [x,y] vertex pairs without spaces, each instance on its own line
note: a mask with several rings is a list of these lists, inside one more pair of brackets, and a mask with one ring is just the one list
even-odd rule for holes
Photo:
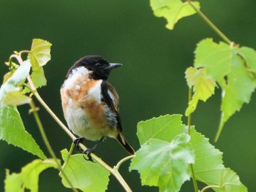
[[[89,80],[86,74],[69,77],[61,90],[64,116],[69,129],[79,137],[96,141],[102,137],[116,137],[116,115],[102,105],[102,80]],[[91,88],[89,88],[92,86]],[[84,94],[80,91],[85,91]],[[86,92],[87,91],[87,92]]]

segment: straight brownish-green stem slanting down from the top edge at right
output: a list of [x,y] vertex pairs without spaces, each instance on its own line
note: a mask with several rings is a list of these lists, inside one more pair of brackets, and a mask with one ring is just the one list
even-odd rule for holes
[[214,23],[212,23],[211,20],[209,20],[206,17],[206,15],[204,15],[203,12],[200,11],[200,9],[197,9],[195,4],[191,0],[187,0],[187,2],[195,9],[198,15],[200,15],[200,17],[203,18],[203,20],[208,24],[208,26],[210,26],[211,29],[214,30],[219,35],[219,37],[221,37],[229,45],[230,43],[232,43],[232,41],[228,39],[227,36],[225,36],[225,34],[223,34],[222,31],[220,31],[219,28],[217,28],[217,26],[215,26]]

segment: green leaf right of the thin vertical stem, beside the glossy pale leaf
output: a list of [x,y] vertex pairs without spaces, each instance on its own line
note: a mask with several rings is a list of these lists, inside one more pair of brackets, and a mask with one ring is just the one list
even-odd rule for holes
[[207,185],[219,185],[219,177],[224,169],[222,152],[209,143],[209,139],[190,129],[190,143],[195,152],[195,164],[193,165],[195,177]]

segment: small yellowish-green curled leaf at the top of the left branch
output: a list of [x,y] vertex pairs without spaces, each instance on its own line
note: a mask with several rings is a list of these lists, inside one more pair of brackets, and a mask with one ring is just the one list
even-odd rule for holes
[[32,68],[44,66],[50,61],[50,42],[42,39],[33,39],[29,59],[31,60]]

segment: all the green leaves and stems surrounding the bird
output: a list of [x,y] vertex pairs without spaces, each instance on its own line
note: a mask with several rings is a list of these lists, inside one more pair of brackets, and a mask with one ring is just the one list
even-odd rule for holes
[[[64,161],[61,166],[44,133],[33,98],[42,104],[69,137],[75,137],[37,93],[37,88],[46,85],[43,66],[50,61],[51,44],[42,39],[34,39],[31,50],[15,53],[7,62],[10,72],[4,75],[4,83],[0,89],[0,139],[43,160],[37,159],[23,166],[18,174],[10,174],[7,170],[5,191],[38,191],[39,174],[50,167],[59,169],[63,185],[72,188],[72,191],[78,191],[77,188],[81,191],[105,191],[108,188],[110,173],[125,191],[131,191],[118,172],[118,167],[129,158],[132,158],[129,170],[138,170],[142,184],[157,186],[159,191],[180,191],[181,186],[190,178],[195,192],[198,191],[197,182],[205,185],[201,191],[208,188],[214,191],[247,191],[238,175],[225,168],[222,152],[197,132],[190,122],[198,101],[206,102],[214,95],[215,88],[221,88],[222,118],[217,131],[217,141],[227,120],[241,110],[244,103],[249,103],[255,91],[256,51],[231,42],[206,15],[203,15],[197,1],[151,0],[150,4],[154,15],[167,20],[166,27],[170,30],[181,18],[197,13],[223,39],[219,43],[211,38],[201,40],[195,49],[194,66],[190,66],[185,72],[189,87],[189,103],[185,112],[187,125],[182,123],[181,115],[163,115],[141,121],[138,123],[137,132],[140,149],[135,155],[119,161],[113,168],[94,154],[92,158],[97,163],[85,161],[82,154],[71,155],[72,150],[61,151]],[[25,53],[28,57],[23,61],[21,55]],[[14,59],[18,64],[12,61]],[[30,105],[52,158],[44,155],[25,130],[17,109],[20,104]],[[80,147],[86,148],[81,144]]]

